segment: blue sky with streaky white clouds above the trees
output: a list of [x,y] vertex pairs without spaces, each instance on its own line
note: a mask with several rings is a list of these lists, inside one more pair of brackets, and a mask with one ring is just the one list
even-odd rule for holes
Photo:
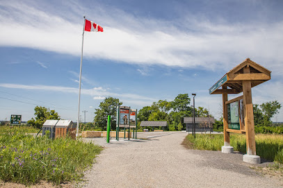
[[252,102],[283,104],[282,10],[273,0],[0,1],[0,120],[28,121],[41,105],[76,121],[83,16],[104,28],[84,33],[83,121],[108,96],[140,110],[192,93],[220,119],[209,88],[246,58],[272,71]]

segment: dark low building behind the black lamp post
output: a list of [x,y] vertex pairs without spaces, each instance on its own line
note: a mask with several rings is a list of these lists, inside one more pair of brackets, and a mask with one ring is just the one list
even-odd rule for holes
[[[186,132],[193,131],[193,117],[184,117]],[[195,132],[213,131],[212,125],[215,123],[214,117],[195,117]]]

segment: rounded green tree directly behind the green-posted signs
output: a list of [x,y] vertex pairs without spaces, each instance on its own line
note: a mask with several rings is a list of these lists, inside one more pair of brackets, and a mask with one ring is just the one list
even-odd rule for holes
[[107,117],[108,115],[111,116],[111,129],[115,129],[116,127],[116,113],[117,113],[117,106],[122,105],[122,102],[119,99],[115,99],[111,96],[104,99],[99,104],[99,108],[95,109],[95,126],[106,130],[107,127]]

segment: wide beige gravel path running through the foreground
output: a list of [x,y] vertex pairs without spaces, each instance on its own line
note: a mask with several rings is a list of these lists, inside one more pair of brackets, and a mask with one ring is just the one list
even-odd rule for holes
[[111,144],[88,139],[106,148],[86,172],[83,187],[282,187],[249,167],[266,164],[246,164],[239,153],[188,150],[181,145],[188,133],[165,134]]

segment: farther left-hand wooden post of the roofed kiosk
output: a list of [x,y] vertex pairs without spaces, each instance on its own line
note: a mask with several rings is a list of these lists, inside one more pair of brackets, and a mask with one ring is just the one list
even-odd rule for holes
[[[226,86],[223,86],[223,89],[227,89]],[[228,128],[228,121],[227,121],[227,105],[225,105],[225,102],[228,101],[228,94],[223,93],[222,94],[223,99],[223,133],[224,133],[224,146],[230,146],[230,133],[226,132],[226,129]]]

